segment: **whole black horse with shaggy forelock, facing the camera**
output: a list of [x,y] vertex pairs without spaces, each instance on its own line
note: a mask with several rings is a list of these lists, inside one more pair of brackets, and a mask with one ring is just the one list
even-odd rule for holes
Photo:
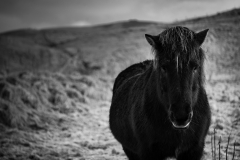
[[154,60],[116,78],[110,129],[130,160],[201,159],[211,121],[201,48],[207,32],[177,26],[146,34]]

